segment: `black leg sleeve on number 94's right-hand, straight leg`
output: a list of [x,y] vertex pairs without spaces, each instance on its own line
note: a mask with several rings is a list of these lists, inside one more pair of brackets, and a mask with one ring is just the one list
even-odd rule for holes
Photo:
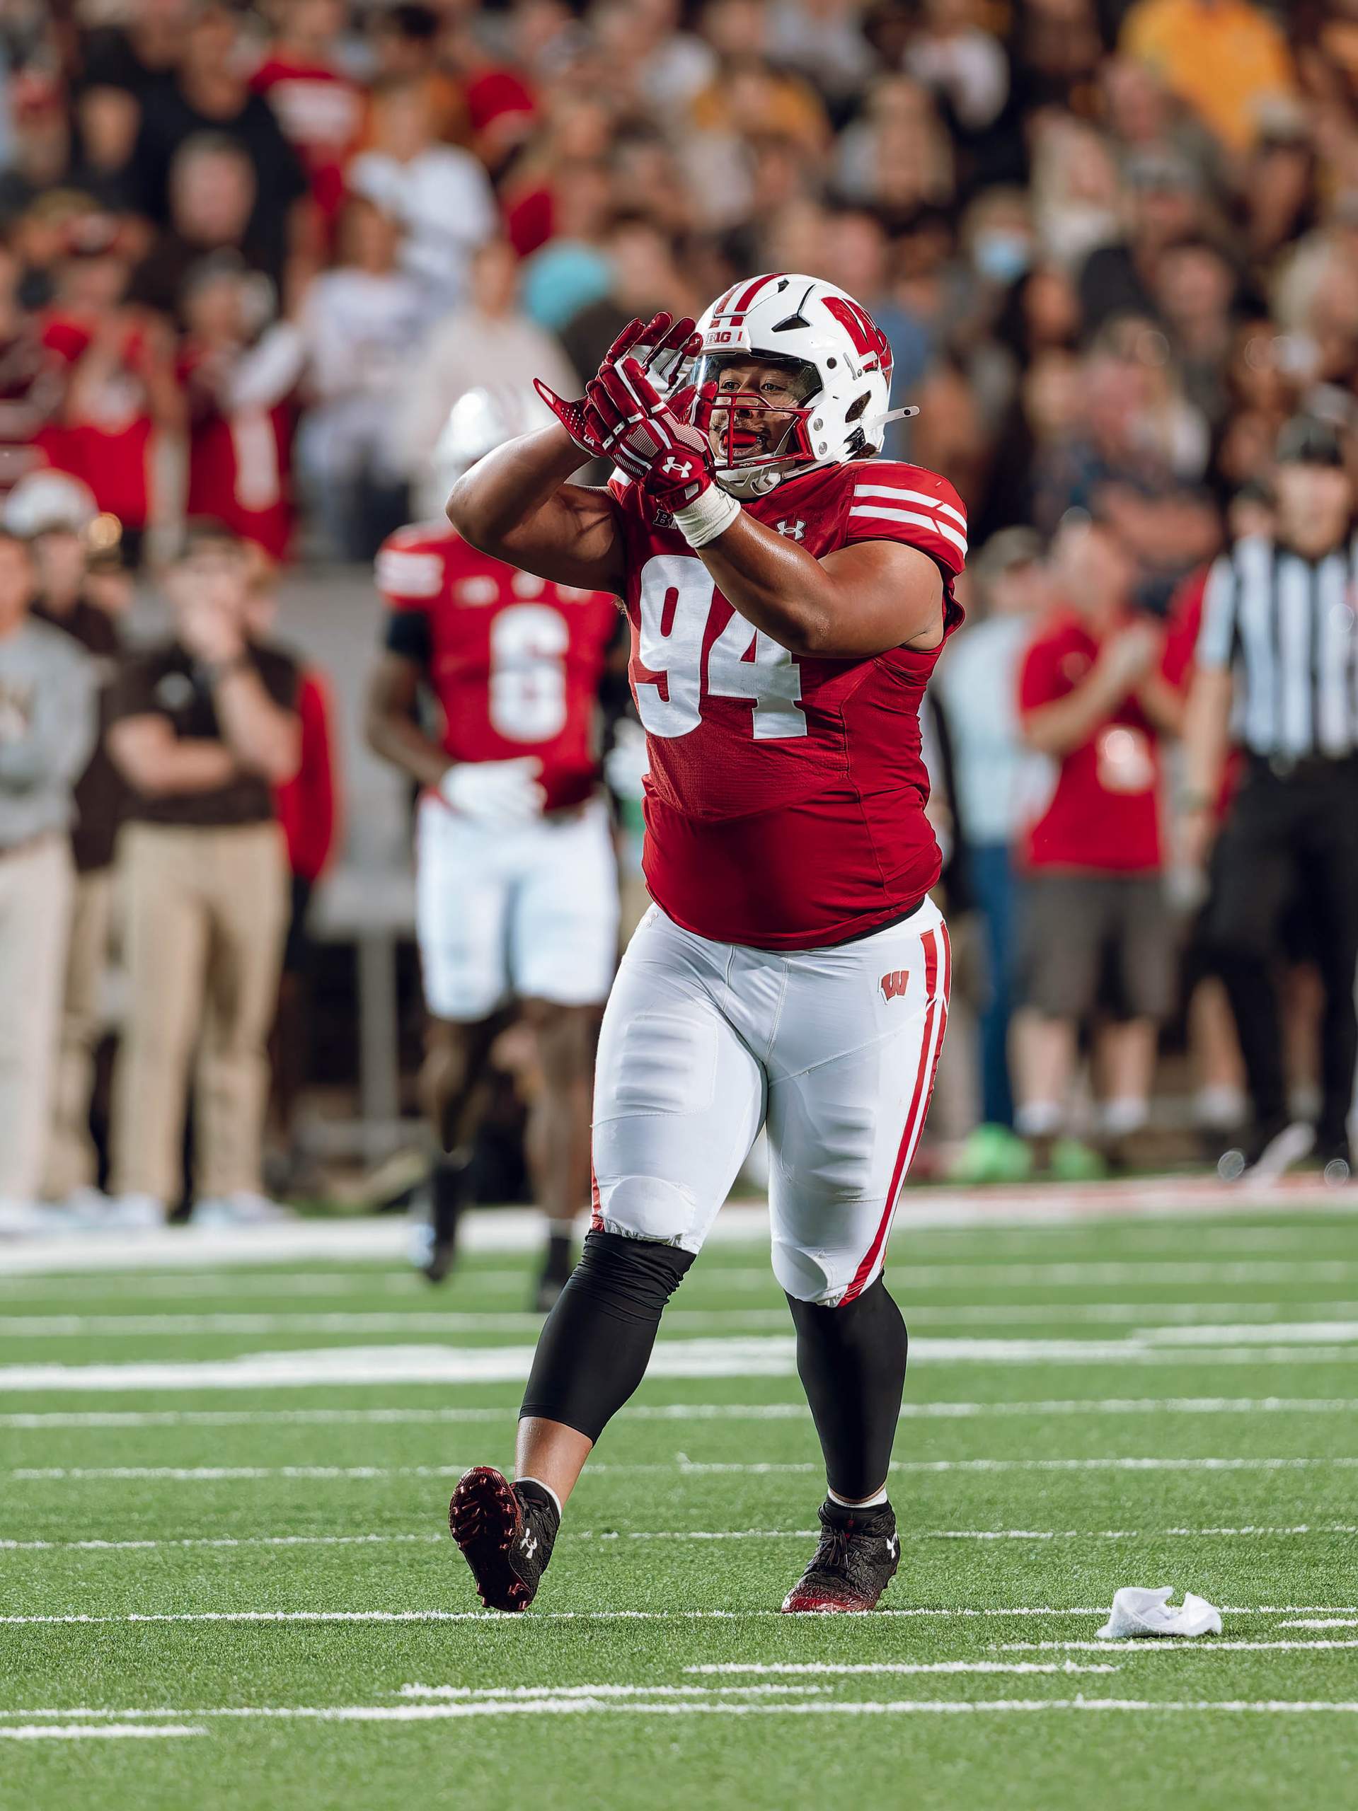
[[905,1322],[882,1277],[847,1308],[791,1295],[788,1306],[829,1489],[862,1501],[882,1489],[891,1465],[905,1389]]

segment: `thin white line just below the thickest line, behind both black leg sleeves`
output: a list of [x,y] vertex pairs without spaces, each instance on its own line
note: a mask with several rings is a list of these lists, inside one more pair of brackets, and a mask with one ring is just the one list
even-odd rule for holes
[[[1354,1396],[1090,1396],[1057,1402],[905,1402],[902,1422],[1018,1414],[1353,1414]],[[54,1409],[0,1414],[0,1427],[364,1427],[505,1423],[512,1409]],[[804,1402],[628,1404],[632,1422],[804,1422]]]

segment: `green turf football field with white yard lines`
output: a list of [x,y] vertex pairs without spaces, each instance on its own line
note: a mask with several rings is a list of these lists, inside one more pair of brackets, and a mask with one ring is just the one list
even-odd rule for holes
[[[509,1461],[527,1279],[0,1253],[5,1811],[1358,1804],[1356,1215],[902,1224],[873,1617],[771,1614],[822,1476],[755,1244],[483,1615],[445,1507]],[[1121,1585],[1224,1635],[1095,1643]]]

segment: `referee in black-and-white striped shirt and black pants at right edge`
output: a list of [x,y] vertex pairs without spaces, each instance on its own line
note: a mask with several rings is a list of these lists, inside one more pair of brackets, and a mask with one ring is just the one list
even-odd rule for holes
[[[1206,853],[1231,744],[1242,771],[1211,860],[1210,960],[1226,983],[1260,1179],[1315,1150],[1349,1179],[1358,1016],[1358,532],[1340,435],[1298,417],[1278,438],[1275,534],[1208,574],[1186,739],[1188,838]],[[1291,1125],[1277,996],[1280,929],[1300,906],[1325,992],[1322,1107]]]

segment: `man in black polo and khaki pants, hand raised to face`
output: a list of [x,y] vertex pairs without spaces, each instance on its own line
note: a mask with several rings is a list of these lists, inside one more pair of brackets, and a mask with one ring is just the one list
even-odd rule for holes
[[299,762],[297,666],[248,639],[248,561],[215,523],[167,569],[174,637],[127,663],[109,748],[132,786],[118,846],[130,1012],[114,1072],[112,1184],[125,1219],[179,1195],[197,1050],[194,1219],[279,1210],[261,1184],[266,1040],[288,924],[270,788]]

